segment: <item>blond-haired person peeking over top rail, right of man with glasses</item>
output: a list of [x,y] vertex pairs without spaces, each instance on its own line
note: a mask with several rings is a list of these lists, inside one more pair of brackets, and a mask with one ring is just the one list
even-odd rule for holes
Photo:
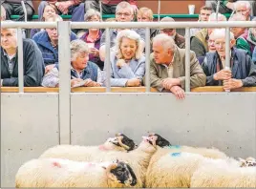
[[[153,22],[153,11],[148,8],[140,8],[137,12],[138,22]],[[150,29],[150,39],[158,34],[157,29]]]

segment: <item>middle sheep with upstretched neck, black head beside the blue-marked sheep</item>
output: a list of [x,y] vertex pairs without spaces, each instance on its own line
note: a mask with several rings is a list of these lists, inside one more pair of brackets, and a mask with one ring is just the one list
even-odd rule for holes
[[[96,154],[96,152],[87,152],[87,149],[81,150],[81,147],[76,149],[68,148],[69,151],[67,150],[67,152],[65,148],[63,148],[61,149],[63,152],[61,152],[58,148],[57,152],[54,152],[54,149],[52,149],[50,153],[45,153],[41,158],[68,158],[70,160],[96,162],[115,159],[124,160],[130,164],[136,174],[138,181],[135,187],[143,187],[150,158],[159,148],[168,145],[170,145],[169,141],[159,135],[143,136],[139,147],[133,151],[129,151],[129,153],[122,151],[100,151]],[[92,155],[88,156],[89,154]]]

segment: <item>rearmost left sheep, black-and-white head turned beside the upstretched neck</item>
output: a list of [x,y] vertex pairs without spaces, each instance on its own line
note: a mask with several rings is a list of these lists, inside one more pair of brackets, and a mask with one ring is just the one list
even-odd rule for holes
[[129,152],[135,148],[135,142],[123,134],[110,137],[103,145],[79,146],[57,145],[46,150],[39,158],[67,158],[77,161],[92,161],[96,156],[103,157],[112,151]]

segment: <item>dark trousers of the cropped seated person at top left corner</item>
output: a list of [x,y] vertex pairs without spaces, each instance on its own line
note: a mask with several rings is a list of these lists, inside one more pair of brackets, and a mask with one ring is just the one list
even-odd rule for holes
[[[16,21],[24,21],[25,15],[22,9],[22,5],[19,3],[3,3],[2,6],[5,8],[7,12],[7,20],[11,20],[11,14],[19,15],[20,17]],[[25,3],[25,7],[27,10],[27,19],[28,21],[32,20],[32,14],[34,10],[30,5]]]

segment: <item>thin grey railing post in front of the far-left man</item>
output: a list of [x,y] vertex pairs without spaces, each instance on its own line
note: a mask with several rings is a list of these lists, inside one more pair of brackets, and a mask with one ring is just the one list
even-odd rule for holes
[[19,93],[24,93],[23,37],[22,29],[17,30],[18,37],[18,83]]

